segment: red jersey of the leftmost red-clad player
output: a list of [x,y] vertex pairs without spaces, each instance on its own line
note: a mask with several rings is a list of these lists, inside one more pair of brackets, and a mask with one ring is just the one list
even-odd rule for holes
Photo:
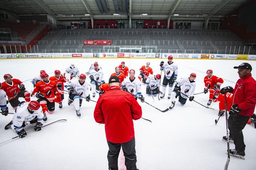
[[[1,89],[6,92],[6,95],[8,99],[12,98],[13,96],[17,96],[18,92],[20,92],[20,88],[18,85],[23,84],[19,79],[12,79],[12,84],[8,84],[5,82],[2,82]],[[14,97],[14,98],[15,98]],[[14,99],[12,98],[12,99]]]

